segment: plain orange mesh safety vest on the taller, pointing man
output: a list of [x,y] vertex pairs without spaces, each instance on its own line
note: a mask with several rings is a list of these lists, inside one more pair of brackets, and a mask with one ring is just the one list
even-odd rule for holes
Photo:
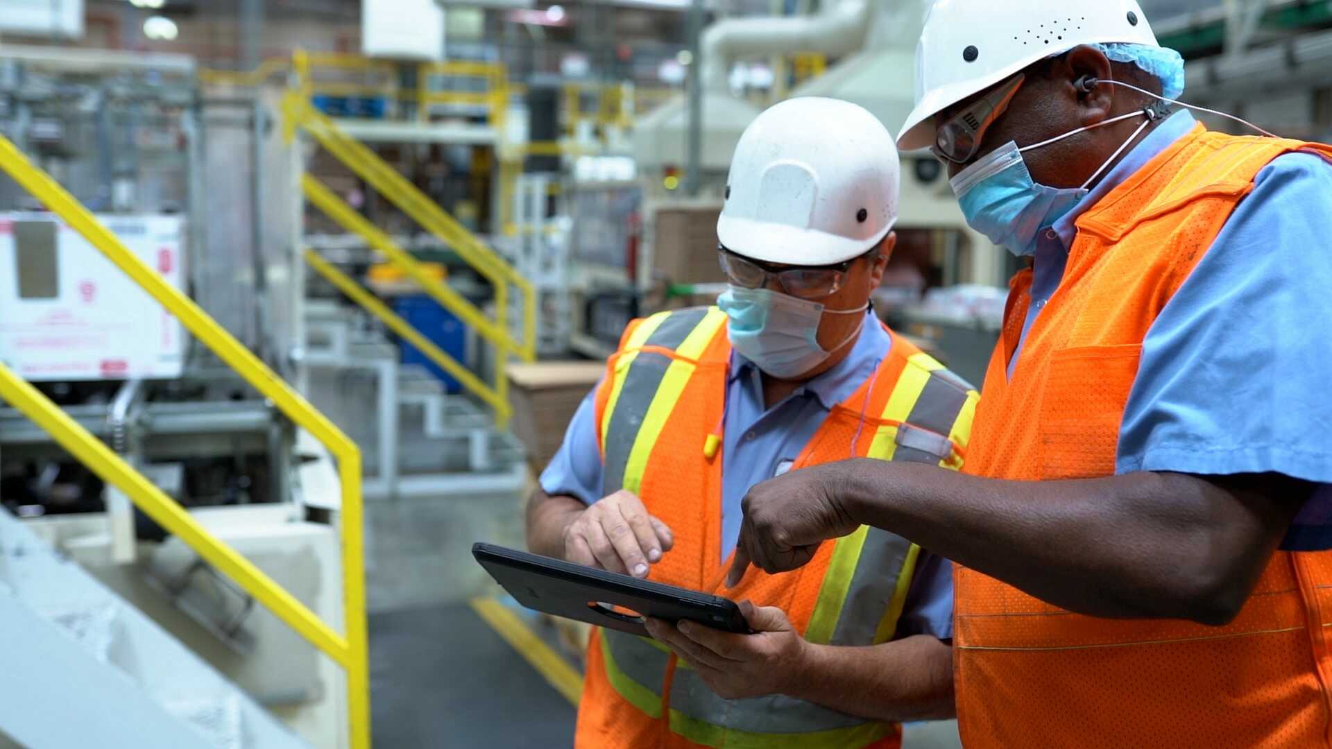
[[[1332,147],[1199,127],[1115,188],[1078,220],[1064,280],[1010,380],[1031,303],[1032,272],[1018,273],[966,472],[1112,476],[1148,329],[1259,171],[1295,151],[1332,159]],[[1074,614],[979,572],[954,574],[968,748],[1332,745],[1332,553],[1273,554],[1224,626]]]

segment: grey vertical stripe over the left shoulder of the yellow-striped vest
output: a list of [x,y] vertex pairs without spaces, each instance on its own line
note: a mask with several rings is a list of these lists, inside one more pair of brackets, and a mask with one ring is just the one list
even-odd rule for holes
[[[674,351],[707,316],[707,308],[682,309],[673,312],[647,336],[645,345],[662,347]],[[643,417],[653,405],[657,388],[666,376],[671,359],[659,352],[639,351],[625,373],[625,384],[615,400],[615,412],[610,414],[606,428],[606,461],[602,473],[602,494],[614,494],[625,488],[625,468],[629,453],[634,449],[634,438],[643,425]]]

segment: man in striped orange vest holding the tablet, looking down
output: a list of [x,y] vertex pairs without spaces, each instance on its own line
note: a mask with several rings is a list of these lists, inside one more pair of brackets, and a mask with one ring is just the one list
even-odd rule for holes
[[[978,394],[870,311],[899,164],[864,109],[794,99],[741,137],[718,221],[718,307],[630,324],[527,513],[543,554],[721,593],[739,502],[866,456],[962,465]],[[952,716],[950,565],[864,528],[802,574],[730,596],[754,634],[599,629],[578,746],[899,746]]]

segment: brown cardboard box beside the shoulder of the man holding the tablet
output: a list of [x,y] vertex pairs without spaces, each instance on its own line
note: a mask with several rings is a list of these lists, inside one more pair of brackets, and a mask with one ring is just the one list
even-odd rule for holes
[[513,433],[527,448],[527,461],[543,470],[565,438],[578,404],[606,372],[601,361],[510,364],[509,402]]

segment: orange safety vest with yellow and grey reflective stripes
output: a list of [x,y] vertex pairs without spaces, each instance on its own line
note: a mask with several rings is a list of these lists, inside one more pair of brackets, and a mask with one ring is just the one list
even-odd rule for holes
[[[779,606],[806,640],[891,640],[919,549],[860,528],[825,544],[803,569],[750,570],[721,588],[722,424],[731,359],[717,308],[663,312],[630,324],[597,397],[603,492],[627,489],[675,534],[651,578]],[[794,469],[871,456],[956,469],[979,396],[902,339],[846,402],[829,413]],[[899,726],[785,696],[723,700],[661,644],[599,629],[578,705],[579,748],[895,748]]]

